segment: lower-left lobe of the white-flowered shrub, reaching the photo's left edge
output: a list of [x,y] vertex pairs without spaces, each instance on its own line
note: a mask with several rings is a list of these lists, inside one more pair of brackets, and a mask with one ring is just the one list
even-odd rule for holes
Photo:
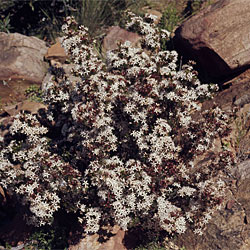
[[70,196],[83,195],[81,175],[48,151],[48,129],[34,115],[17,115],[9,131],[13,140],[0,152],[0,183],[29,206],[29,214],[24,215],[28,223],[51,223],[62,199],[66,210],[72,205],[65,199],[69,189]]

